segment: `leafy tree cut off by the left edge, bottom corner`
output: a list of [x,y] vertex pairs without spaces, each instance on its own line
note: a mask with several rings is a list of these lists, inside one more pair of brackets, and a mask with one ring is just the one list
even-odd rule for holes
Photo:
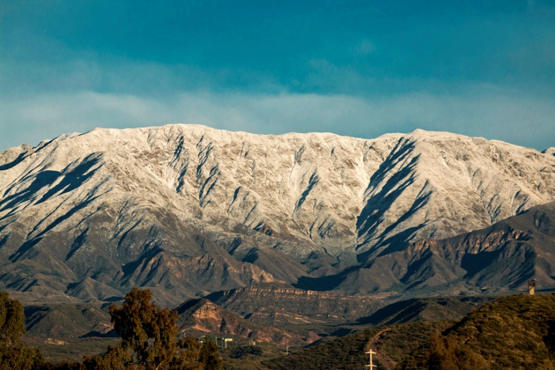
[[37,348],[24,346],[21,337],[25,334],[25,314],[17,299],[0,292],[0,370],[27,370],[42,366],[41,352]]

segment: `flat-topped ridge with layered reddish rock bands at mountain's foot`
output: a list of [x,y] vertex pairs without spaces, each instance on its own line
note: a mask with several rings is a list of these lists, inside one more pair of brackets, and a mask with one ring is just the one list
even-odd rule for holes
[[205,297],[250,321],[281,326],[354,321],[376,311],[376,296],[342,296],[267,283],[214,292]]

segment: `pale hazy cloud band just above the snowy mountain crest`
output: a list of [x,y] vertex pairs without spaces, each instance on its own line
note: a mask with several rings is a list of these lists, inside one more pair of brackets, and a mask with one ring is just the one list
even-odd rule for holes
[[[485,136],[522,146],[555,146],[555,104],[549,99],[469,90],[389,97],[319,94],[181,92],[153,98],[131,94],[42,94],[0,102],[0,150],[36,145],[95,127],[144,127],[195,123],[264,134],[334,132],[373,138],[416,128]],[[13,129],[17,125],[17,129]]]

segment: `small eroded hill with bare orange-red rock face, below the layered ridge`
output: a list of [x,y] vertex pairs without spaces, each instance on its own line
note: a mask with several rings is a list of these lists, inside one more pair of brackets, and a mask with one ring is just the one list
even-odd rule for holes
[[189,336],[250,338],[256,342],[305,346],[320,337],[311,332],[303,337],[296,333],[245,320],[208,299],[191,299],[175,308],[179,313],[178,325]]

